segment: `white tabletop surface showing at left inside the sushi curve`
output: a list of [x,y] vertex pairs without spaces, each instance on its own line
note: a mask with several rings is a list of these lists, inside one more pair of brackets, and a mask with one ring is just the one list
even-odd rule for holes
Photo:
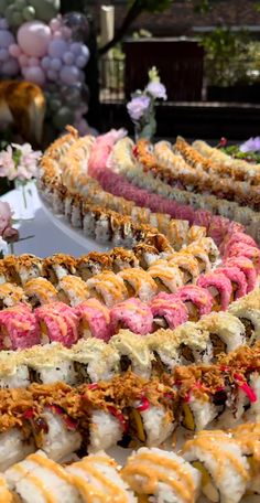
[[[29,253],[39,257],[46,257],[55,253],[64,253],[77,257],[89,252],[89,248],[86,249],[85,245],[80,246],[78,243],[75,243],[52,223],[42,208],[34,183],[30,183],[29,188],[32,193],[31,197],[28,197],[30,203],[29,212],[31,212],[31,215],[34,214],[34,217],[29,221],[20,221],[15,227],[19,228],[20,237],[26,237],[29,235],[33,235],[34,237],[15,243],[15,255]],[[14,212],[14,218],[19,220],[21,216],[26,216],[24,215],[21,190],[8,192],[1,197],[1,201],[7,201],[10,204]],[[95,248],[98,248],[98,246],[95,246],[95,243],[93,243],[93,249]]]

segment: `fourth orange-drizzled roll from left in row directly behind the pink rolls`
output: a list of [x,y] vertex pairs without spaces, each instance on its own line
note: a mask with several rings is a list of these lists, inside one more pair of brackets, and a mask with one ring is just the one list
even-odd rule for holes
[[89,278],[87,287],[90,297],[97,298],[108,308],[111,308],[117,302],[122,302],[129,297],[123,279],[110,271],[104,271]]

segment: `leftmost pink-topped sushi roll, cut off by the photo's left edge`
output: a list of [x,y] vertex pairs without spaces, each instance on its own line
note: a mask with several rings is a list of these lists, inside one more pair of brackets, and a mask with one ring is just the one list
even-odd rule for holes
[[0,349],[24,350],[40,344],[40,329],[32,309],[18,304],[0,311]]

